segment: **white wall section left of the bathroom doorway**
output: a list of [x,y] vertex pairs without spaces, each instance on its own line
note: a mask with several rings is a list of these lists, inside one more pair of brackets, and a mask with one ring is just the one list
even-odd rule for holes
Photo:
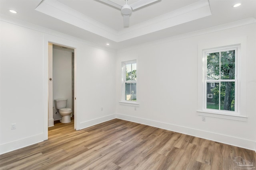
[[38,31],[1,22],[0,153],[42,141],[43,38]]

